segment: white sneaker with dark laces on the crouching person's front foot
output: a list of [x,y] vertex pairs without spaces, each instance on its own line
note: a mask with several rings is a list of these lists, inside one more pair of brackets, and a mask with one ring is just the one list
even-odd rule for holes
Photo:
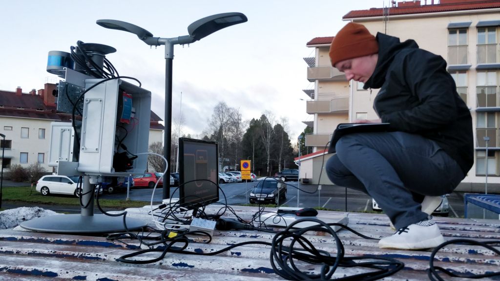
[[378,241],[379,248],[426,249],[444,242],[444,238],[432,216],[406,227],[399,228],[394,234]]

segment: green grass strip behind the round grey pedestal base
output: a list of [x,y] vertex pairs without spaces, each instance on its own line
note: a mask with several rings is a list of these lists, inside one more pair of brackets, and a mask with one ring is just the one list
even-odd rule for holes
[[[80,205],[80,199],[73,195],[61,195],[52,194],[48,196],[43,196],[41,193],[37,192],[29,186],[18,186],[18,187],[3,187],[2,188],[2,200],[12,201],[12,202],[28,202],[33,204],[48,204],[48,205]],[[123,200],[109,200],[109,199],[99,199],[99,205],[101,207],[109,208],[130,208],[130,207],[142,207],[148,205],[150,202],[146,201],[126,201]],[[95,205],[95,203],[94,203]]]

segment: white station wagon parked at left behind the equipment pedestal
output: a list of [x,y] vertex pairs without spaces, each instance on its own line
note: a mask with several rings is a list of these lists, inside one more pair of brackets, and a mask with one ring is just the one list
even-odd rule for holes
[[[42,195],[50,194],[73,194],[78,197],[81,193],[81,186],[78,186],[79,176],[65,176],[58,174],[44,175],[36,181],[35,190]],[[76,189],[76,187],[79,187]],[[95,192],[102,193],[102,187],[95,186]]]

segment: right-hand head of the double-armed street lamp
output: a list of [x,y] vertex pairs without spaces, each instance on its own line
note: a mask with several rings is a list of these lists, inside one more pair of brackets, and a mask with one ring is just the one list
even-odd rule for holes
[[246,22],[248,18],[240,12],[225,12],[200,18],[187,26],[187,32],[197,41],[224,27]]

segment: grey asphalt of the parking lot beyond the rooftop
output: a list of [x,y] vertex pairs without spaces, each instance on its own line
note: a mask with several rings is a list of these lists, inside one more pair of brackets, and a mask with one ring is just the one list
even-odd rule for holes
[[[317,185],[300,184],[301,190],[297,191],[296,181],[287,181],[286,199],[280,202],[280,205],[290,207],[324,207],[328,209],[341,211],[371,211],[371,197],[356,190],[346,189],[335,185],[322,185],[320,190]],[[224,183],[220,185],[222,191],[219,194],[219,202],[227,201],[227,204],[244,204],[248,202],[247,194],[256,182],[248,183]],[[131,188],[128,192],[130,200],[150,201],[153,195],[152,188]],[[170,197],[178,198],[178,189],[170,187]],[[101,198],[106,199],[125,199],[127,197],[126,189],[113,194],[103,193]],[[297,200],[298,197],[298,200]],[[153,202],[161,202],[162,189],[154,190]],[[463,193],[453,192],[449,194],[448,201],[450,205],[450,217],[463,217]],[[23,206],[25,204],[2,202],[3,208],[13,208]],[[36,204],[45,209],[51,209],[58,212],[79,213],[78,206],[57,206],[57,205],[42,205]],[[95,204],[94,204],[95,205]],[[99,213],[97,208],[94,208],[95,213]]]

